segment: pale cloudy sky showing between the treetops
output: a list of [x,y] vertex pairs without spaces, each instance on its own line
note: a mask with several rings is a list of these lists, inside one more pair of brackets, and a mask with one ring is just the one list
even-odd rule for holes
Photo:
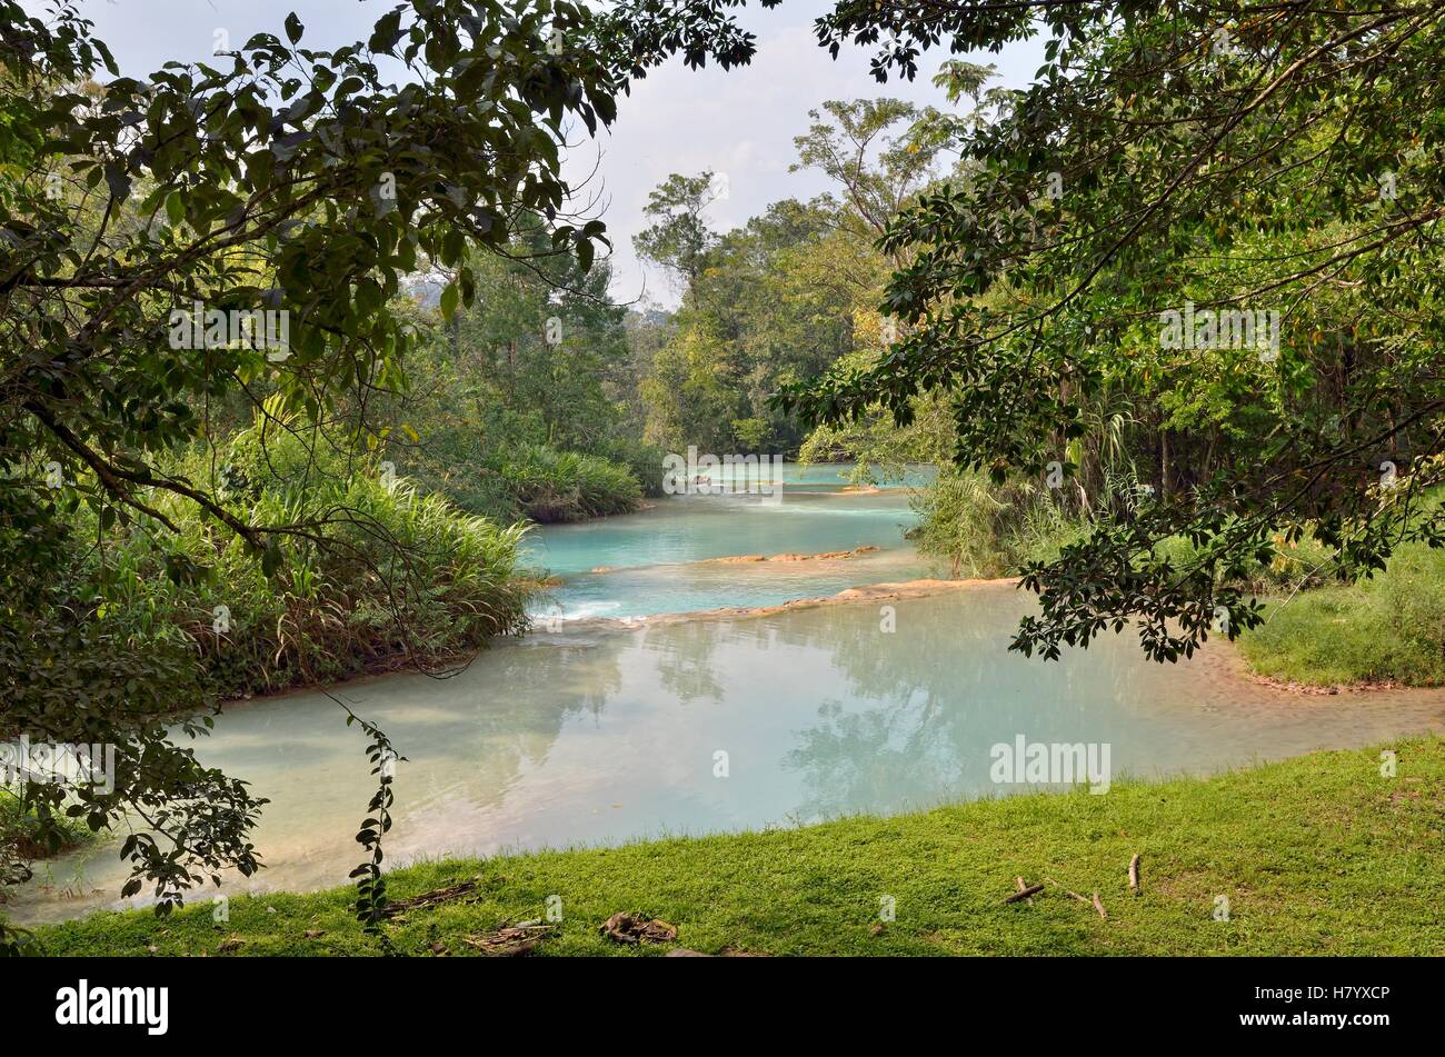
[[[394,0],[81,0],[85,17],[116,55],[121,71],[144,77],[168,61],[208,56],[217,35],[238,46],[253,33],[282,35],[289,12],[306,26],[302,42],[335,48],[370,35],[371,23]],[[43,13],[46,0],[25,0]],[[646,227],[647,193],[669,173],[695,175],[711,169],[725,176],[727,195],[708,209],[717,231],[744,224],[783,198],[811,198],[828,189],[821,173],[789,173],[793,137],[809,126],[808,111],[825,100],[892,95],[918,104],[946,107],[932,85],[945,52],[923,56],[913,82],[877,84],[868,74],[868,52],[844,49],[838,59],[818,46],[814,19],[825,0],[785,0],[773,10],[756,4],[738,20],[757,36],[750,66],[731,71],[691,71],[673,59],[633,85],[618,101],[617,121],[591,140],[585,130],[572,139],[566,173],[584,198],[598,196],[614,244],[613,296],[620,302],[652,302],[672,308],[678,292],[665,276],[637,260],[631,237]],[[1000,55],[965,56],[994,62],[998,82],[1023,87],[1040,65],[1042,45],[1023,42]],[[594,172],[595,170],[595,172]],[[585,183],[585,186],[582,186]],[[720,180],[720,186],[722,182]]]

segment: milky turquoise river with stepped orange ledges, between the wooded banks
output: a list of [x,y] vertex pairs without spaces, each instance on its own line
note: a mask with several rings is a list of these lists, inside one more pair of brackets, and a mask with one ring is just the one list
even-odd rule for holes
[[[1178,666],[1127,634],[1026,660],[1007,645],[1033,598],[1013,579],[919,576],[906,517],[890,497],[669,498],[539,531],[566,619],[533,617],[454,679],[227,706],[198,755],[272,803],[256,833],[269,869],[225,892],[325,889],[355,865],[373,780],[338,699],[406,757],[394,865],[996,797],[1017,790],[988,774],[990,747],[1019,735],[1107,745],[1117,775],[1168,780],[1445,731],[1445,692],[1282,692],[1218,638]],[[629,565],[594,573],[598,554]],[[717,599],[762,604],[689,605]],[[12,915],[136,905],[114,856],[103,840],[46,864]]]

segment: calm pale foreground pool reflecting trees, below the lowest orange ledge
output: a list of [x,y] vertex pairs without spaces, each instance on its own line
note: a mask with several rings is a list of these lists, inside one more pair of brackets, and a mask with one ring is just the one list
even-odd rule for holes
[[[990,747],[1110,742],[1114,777],[1205,773],[1314,748],[1445,729],[1445,693],[1296,697],[1205,650],[1155,666],[1127,638],[1043,664],[1006,651],[1029,599],[980,588],[639,631],[535,635],[451,680],[393,676],[341,696],[407,757],[389,861],[617,842],[926,807],[1012,791]],[[730,777],[714,777],[714,754]],[[270,797],[254,884],[345,882],[371,791],[363,742],[321,695],[230,709],[201,758]],[[53,864],[12,913],[75,915],[116,900],[116,845]],[[243,882],[237,882],[241,885]],[[92,889],[100,889],[95,894]]]

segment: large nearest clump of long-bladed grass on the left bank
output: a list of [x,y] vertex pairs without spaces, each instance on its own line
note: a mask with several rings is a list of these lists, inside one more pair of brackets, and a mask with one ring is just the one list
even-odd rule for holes
[[[98,559],[116,573],[104,578],[103,619],[137,647],[179,637],[223,696],[442,660],[526,628],[523,526],[464,514],[376,459],[312,449],[305,432],[272,433],[230,445],[228,503],[256,524],[319,520],[319,536],[285,537],[267,576],[233,533],[188,503],[158,500],[179,533],[136,524],[111,534]],[[199,478],[208,465],[198,455],[179,471]]]

